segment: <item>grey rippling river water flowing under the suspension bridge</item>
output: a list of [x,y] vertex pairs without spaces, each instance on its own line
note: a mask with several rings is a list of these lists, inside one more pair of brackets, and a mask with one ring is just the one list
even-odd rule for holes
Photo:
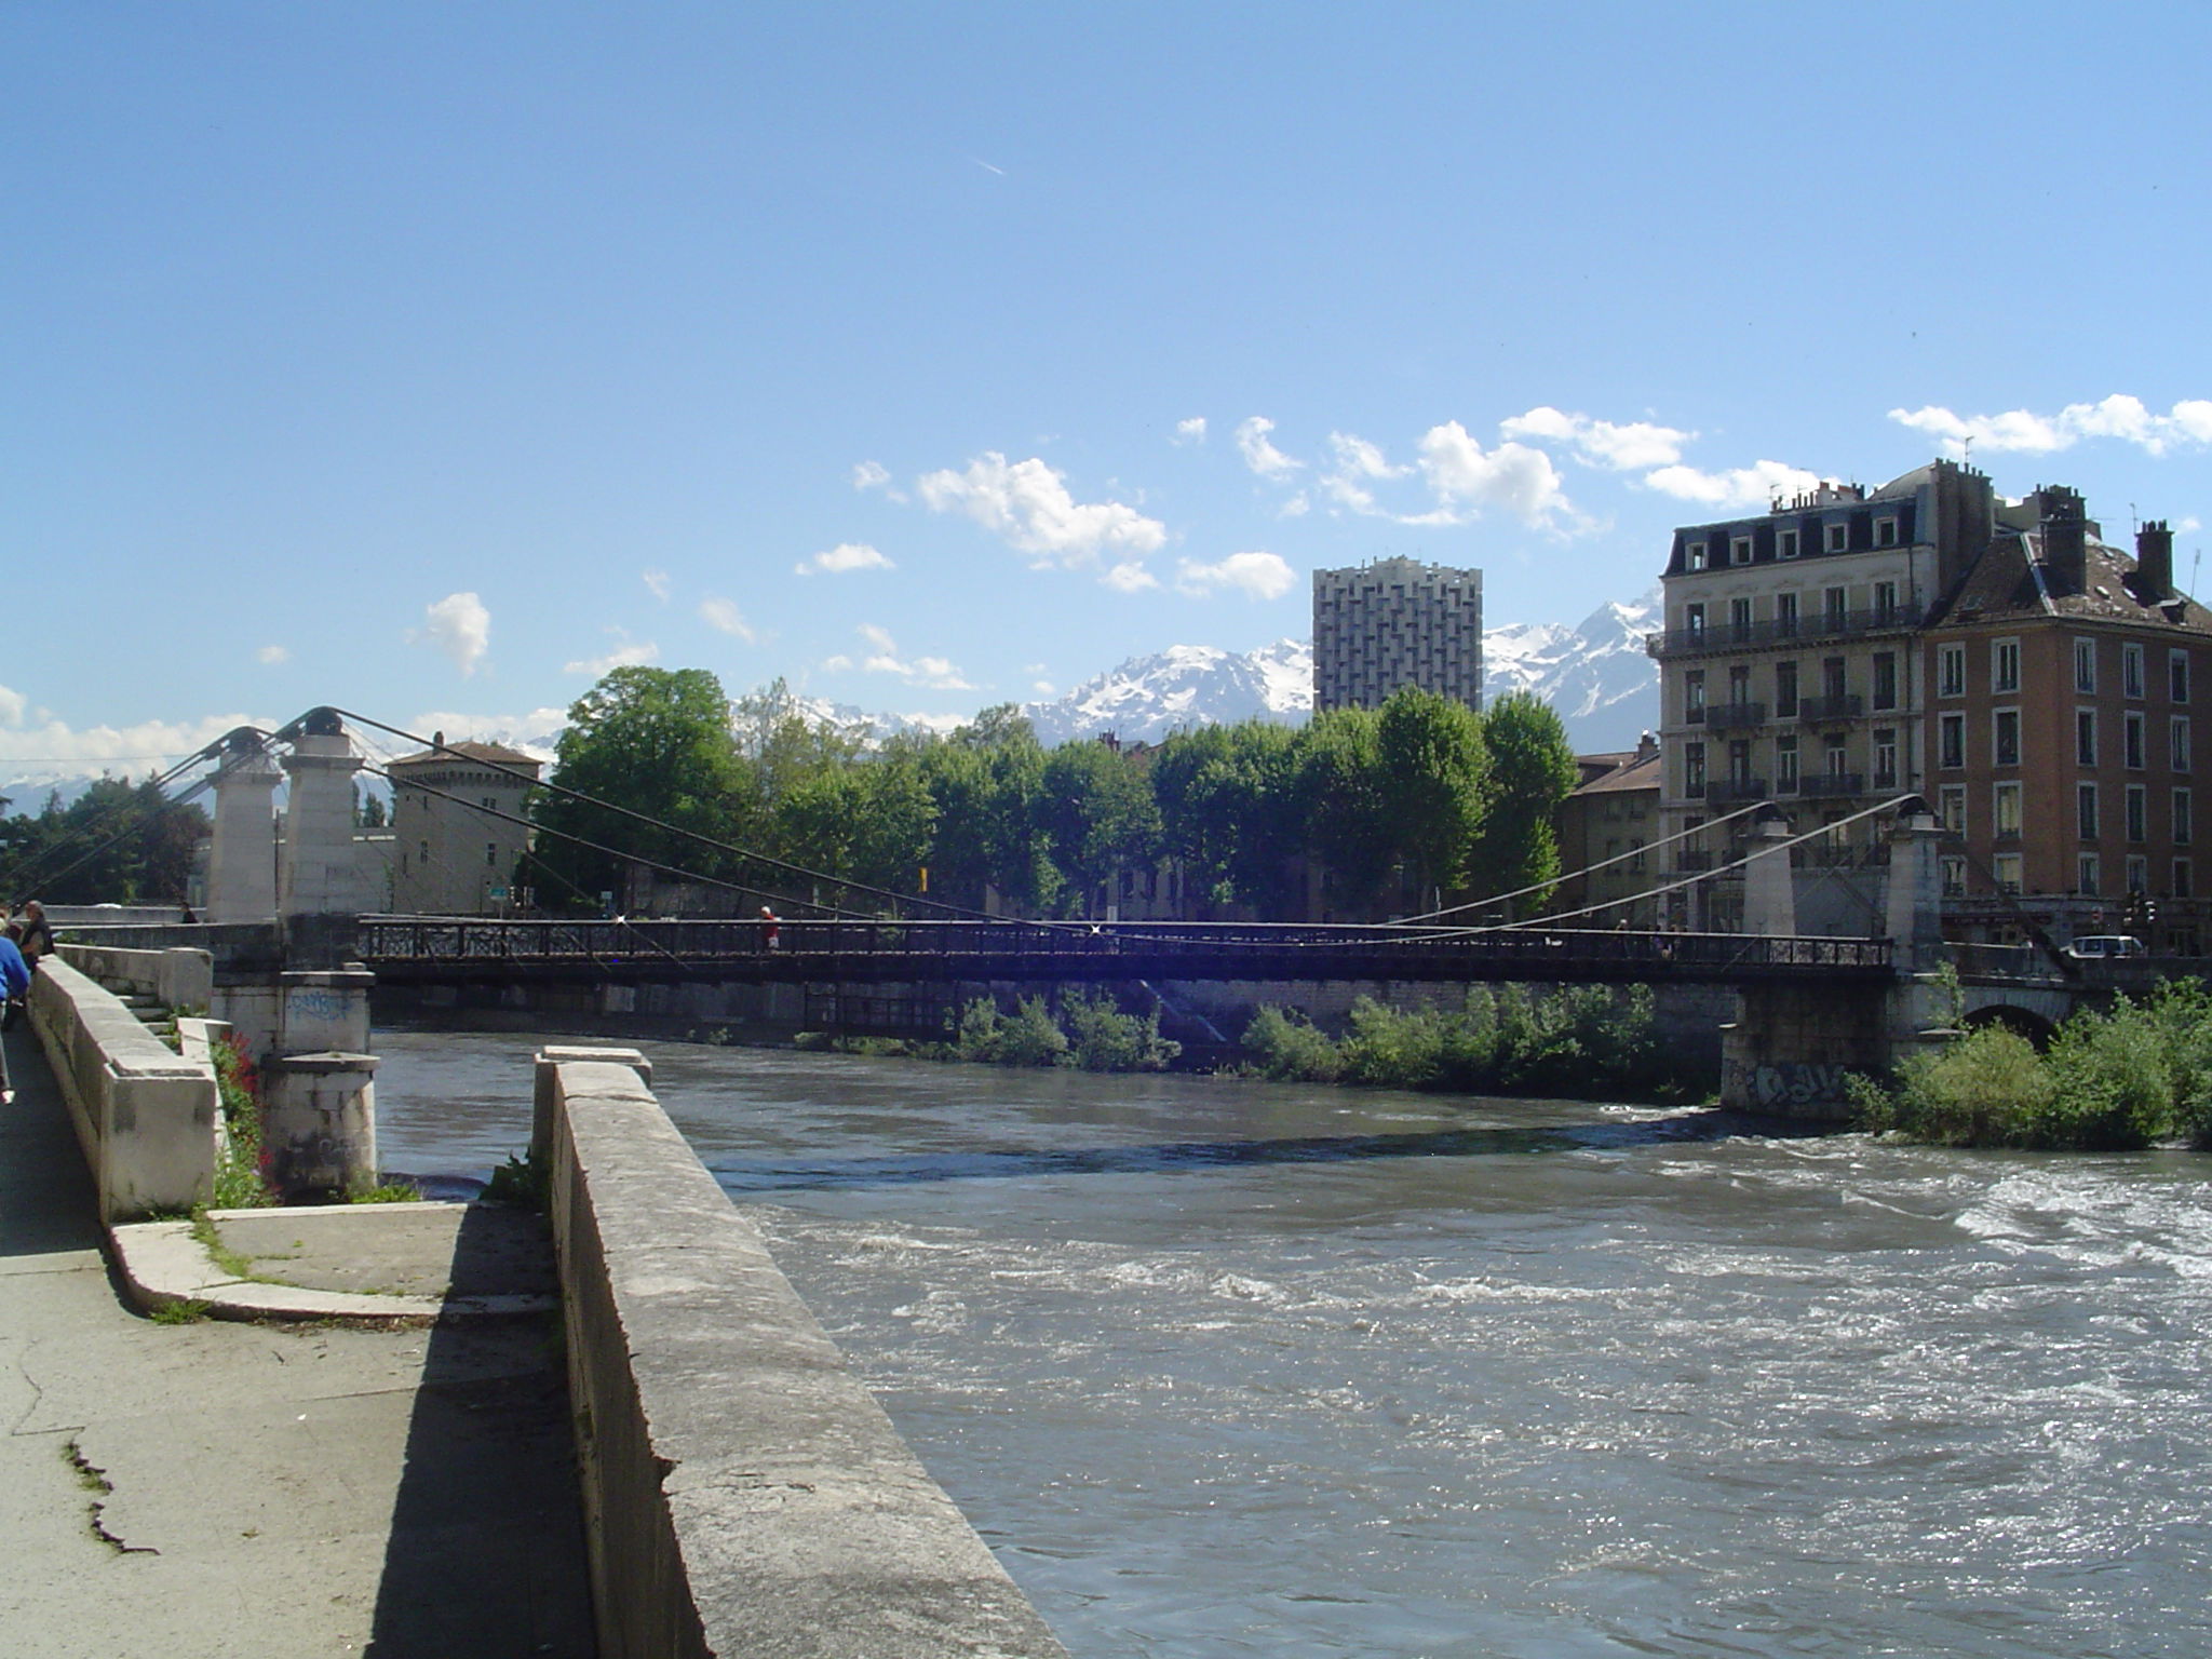
[[[385,1164],[535,1042],[378,1033]],[[648,1053],[1079,1659],[2212,1652],[2212,1159]]]

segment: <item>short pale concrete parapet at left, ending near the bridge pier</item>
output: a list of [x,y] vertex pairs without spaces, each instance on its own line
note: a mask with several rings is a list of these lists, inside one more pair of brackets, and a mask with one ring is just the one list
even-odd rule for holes
[[69,1099],[102,1221],[186,1210],[215,1190],[215,1068],[186,1060],[60,956],[31,978],[31,1026]]

